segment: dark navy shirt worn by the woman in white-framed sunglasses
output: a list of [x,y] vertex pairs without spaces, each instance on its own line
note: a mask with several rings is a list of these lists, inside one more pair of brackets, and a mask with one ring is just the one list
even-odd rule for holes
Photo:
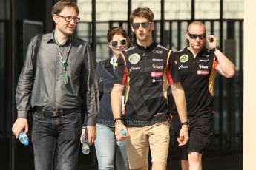
[[[103,82],[103,95],[99,101],[99,116],[97,118],[97,123],[104,124],[106,126],[114,126],[114,116],[111,109],[111,91],[114,85],[114,71],[113,65],[111,64],[111,58],[104,61],[100,61],[96,66],[96,76],[102,77]],[[103,72],[102,67],[105,63]]]

